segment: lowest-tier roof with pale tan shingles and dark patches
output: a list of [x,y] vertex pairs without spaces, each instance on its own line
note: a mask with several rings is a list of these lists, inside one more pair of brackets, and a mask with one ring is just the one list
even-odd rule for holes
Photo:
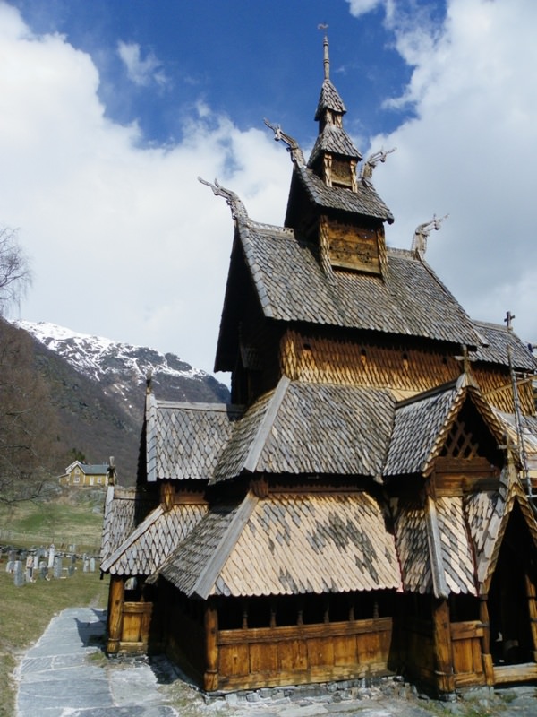
[[394,538],[367,493],[249,494],[208,514],[160,574],[202,599],[401,587]]

